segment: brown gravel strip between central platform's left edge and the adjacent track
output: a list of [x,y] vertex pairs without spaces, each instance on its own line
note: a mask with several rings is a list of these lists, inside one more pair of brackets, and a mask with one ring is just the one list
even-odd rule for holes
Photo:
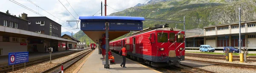
[[89,54],[87,54],[86,56],[84,56],[82,59],[80,59],[79,61],[77,61],[75,64],[73,64],[72,66],[70,66],[69,68],[67,68],[66,70],[64,70],[64,73],[73,73],[74,70],[76,70],[76,68],[81,65],[81,63],[88,58],[88,56],[90,56],[90,54],[93,53],[90,52]]

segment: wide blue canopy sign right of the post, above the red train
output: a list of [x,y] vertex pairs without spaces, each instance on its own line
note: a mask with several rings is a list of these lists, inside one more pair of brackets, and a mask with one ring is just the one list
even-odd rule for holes
[[109,22],[110,31],[141,31],[143,22]]

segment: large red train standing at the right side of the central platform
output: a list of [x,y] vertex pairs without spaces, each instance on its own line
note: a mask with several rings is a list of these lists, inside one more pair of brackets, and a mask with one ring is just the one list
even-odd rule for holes
[[110,42],[109,46],[113,51],[119,52],[123,45],[126,45],[128,58],[143,61],[154,67],[163,67],[178,65],[180,61],[184,61],[184,37],[182,30],[154,27]]

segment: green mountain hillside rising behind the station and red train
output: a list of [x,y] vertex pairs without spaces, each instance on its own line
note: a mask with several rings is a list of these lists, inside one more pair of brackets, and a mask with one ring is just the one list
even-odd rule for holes
[[[154,2],[155,1],[155,2]],[[144,6],[135,6],[110,16],[145,17],[183,21],[186,17],[186,29],[203,28],[209,25],[238,22],[241,6],[241,21],[256,20],[256,0],[151,0]],[[175,23],[143,21],[143,28],[156,24]],[[183,24],[177,28],[183,30]],[[80,32],[80,31],[79,31]],[[125,34],[117,39],[131,35]],[[115,40],[115,39],[114,39]]]

